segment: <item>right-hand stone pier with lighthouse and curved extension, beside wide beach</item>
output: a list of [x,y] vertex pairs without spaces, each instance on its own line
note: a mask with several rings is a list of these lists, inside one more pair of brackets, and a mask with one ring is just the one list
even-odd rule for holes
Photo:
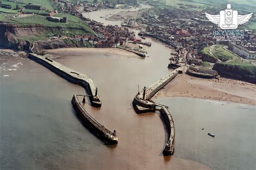
[[179,73],[183,73],[185,69],[185,66],[179,67],[173,70],[173,72],[171,72],[170,74],[167,74],[162,79],[154,82],[149,87],[144,87],[144,89],[134,97],[132,102],[134,111],[136,111],[137,114],[142,114],[145,112],[155,112],[157,110],[156,107],[161,108],[158,110],[160,111],[161,117],[163,117],[164,119],[166,130],[169,134],[169,138],[163,151],[164,155],[172,155],[174,153],[174,122],[169,110],[164,105],[155,103],[151,100],[151,98],[167,83],[173,80],[174,77],[176,77]]

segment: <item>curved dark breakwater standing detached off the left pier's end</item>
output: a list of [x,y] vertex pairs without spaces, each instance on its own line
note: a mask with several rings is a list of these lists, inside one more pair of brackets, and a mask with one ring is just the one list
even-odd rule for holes
[[71,103],[77,114],[83,119],[86,125],[93,130],[97,136],[102,139],[106,144],[113,145],[118,143],[116,130],[111,132],[104,125],[97,122],[88,112],[83,108],[79,102],[77,95],[73,95]]

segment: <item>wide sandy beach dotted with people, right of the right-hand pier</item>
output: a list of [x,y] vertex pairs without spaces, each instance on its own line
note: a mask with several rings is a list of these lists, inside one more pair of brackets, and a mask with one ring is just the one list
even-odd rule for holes
[[192,97],[256,105],[256,86],[238,80],[200,79],[182,74],[161,89],[153,100],[163,97]]

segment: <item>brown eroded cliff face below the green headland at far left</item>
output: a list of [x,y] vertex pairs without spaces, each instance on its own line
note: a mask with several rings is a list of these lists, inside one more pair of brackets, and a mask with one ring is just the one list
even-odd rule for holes
[[[33,51],[53,48],[80,47],[79,42],[66,42],[63,40],[28,41],[19,37],[40,36],[49,32],[63,31],[62,27],[48,27],[43,25],[23,26],[13,24],[0,24],[0,46],[17,50]],[[73,28],[70,28],[73,29]]]

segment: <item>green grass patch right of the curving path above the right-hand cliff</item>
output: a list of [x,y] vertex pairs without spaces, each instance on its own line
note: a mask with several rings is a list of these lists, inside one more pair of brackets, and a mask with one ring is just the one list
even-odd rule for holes
[[228,60],[235,60],[238,59],[238,57],[224,49],[221,46],[215,46],[213,48],[213,55],[216,56],[221,61],[228,61]]

